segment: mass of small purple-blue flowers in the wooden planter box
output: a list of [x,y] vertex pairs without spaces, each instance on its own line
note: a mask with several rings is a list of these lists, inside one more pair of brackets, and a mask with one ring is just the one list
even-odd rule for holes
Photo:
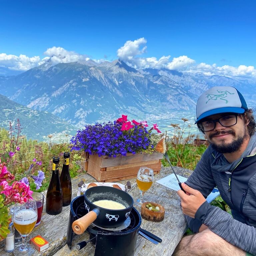
[[109,157],[152,150],[151,134],[146,127],[138,122],[133,124],[127,130],[123,130],[122,122],[118,121],[86,125],[71,139],[71,149]]

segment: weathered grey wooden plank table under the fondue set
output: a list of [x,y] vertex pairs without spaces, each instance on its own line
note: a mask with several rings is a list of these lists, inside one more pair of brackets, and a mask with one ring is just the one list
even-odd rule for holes
[[[177,174],[188,177],[192,171],[174,167]],[[183,216],[183,213],[180,208],[180,200],[176,191],[169,189],[156,181],[171,174],[172,170],[170,167],[162,167],[159,174],[154,176],[154,182],[152,187],[145,193],[145,200],[151,202],[160,203],[165,207],[165,217],[162,222],[151,222],[142,219],[141,227],[152,232],[153,234],[162,238],[162,242],[158,245],[153,244],[148,241],[141,235],[138,235],[137,246],[135,255],[138,256],[170,256],[172,255],[177,244],[181,240],[186,228],[186,220]],[[88,175],[82,174],[78,177],[72,179],[72,197],[77,195],[77,183],[80,180],[84,180],[85,183],[96,182],[96,180]],[[126,184],[127,181],[120,181],[122,184]],[[136,179],[130,179],[132,188],[129,191],[129,194],[135,199],[139,196],[139,190],[136,186]],[[44,192],[46,194],[46,192]],[[136,209],[140,212],[139,207],[135,205]],[[45,213],[45,202],[44,210],[42,215],[41,224],[38,227],[35,227],[32,233],[29,235],[29,238],[36,235],[41,235],[47,241],[49,241],[49,248],[42,252],[36,251],[34,255],[43,255],[43,256],[71,256],[71,255],[84,255],[84,256],[93,256],[94,247],[91,243],[88,243],[86,247],[82,250],[77,251],[75,246],[78,242],[86,241],[89,239],[89,235],[85,232],[83,235],[76,236],[73,239],[73,247],[70,250],[66,244],[66,232],[68,226],[70,207],[63,207],[63,210],[58,215],[48,215]],[[4,251],[4,242],[0,243],[0,255],[1,256],[10,256],[12,253],[7,253]]]

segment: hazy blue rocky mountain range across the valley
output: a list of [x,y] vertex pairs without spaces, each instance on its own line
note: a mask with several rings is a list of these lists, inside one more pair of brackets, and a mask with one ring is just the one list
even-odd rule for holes
[[[182,117],[193,123],[197,98],[208,88],[234,86],[254,106],[255,85],[251,78],[206,76],[165,68],[138,70],[121,60],[54,65],[49,59],[21,74],[0,77],[1,94],[9,100],[25,106],[28,112],[37,111],[39,116],[51,113],[49,120],[62,120],[62,126],[56,124],[56,132],[64,128],[71,132],[74,127],[115,120],[122,114],[130,120],[157,122],[168,130],[171,123],[181,123]],[[15,115],[19,117],[19,112]],[[51,124],[40,128],[45,135],[52,133]]]

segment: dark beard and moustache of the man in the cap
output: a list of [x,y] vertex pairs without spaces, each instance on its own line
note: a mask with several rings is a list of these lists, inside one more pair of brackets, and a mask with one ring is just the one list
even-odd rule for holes
[[[216,136],[216,135],[219,135],[219,134],[226,134],[226,133],[230,133],[232,135],[236,135],[236,133],[231,130],[231,131],[225,131],[225,132],[216,132],[214,134],[211,134],[209,136],[209,139],[212,139],[212,137]],[[243,142],[248,138],[249,134],[247,133],[247,131],[245,130],[245,133],[244,135],[238,135],[237,138],[235,140],[233,140],[232,142],[230,143],[226,143],[225,140],[222,140],[220,144],[215,144],[213,142],[210,141],[211,145],[212,145],[212,148],[216,151],[218,151],[219,153],[233,153],[233,152],[236,152],[238,151]]]

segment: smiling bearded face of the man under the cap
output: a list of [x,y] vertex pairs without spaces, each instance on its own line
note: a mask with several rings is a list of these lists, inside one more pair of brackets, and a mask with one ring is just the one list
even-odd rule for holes
[[[216,120],[227,115],[229,113],[212,115],[207,120]],[[216,122],[215,128],[205,132],[205,136],[212,144],[212,147],[218,152],[232,153],[240,149],[249,134],[244,120],[240,116],[237,116],[237,123],[235,125],[224,127],[219,122]]]

